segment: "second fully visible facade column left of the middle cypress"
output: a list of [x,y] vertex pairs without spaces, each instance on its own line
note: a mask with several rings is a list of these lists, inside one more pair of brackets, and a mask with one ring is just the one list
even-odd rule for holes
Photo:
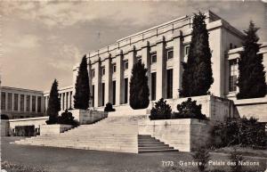
[[111,73],[111,54],[105,60],[105,103],[112,102],[112,73]]

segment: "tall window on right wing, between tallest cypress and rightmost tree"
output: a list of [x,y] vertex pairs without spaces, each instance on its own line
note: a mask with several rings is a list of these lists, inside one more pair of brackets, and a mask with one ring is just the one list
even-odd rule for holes
[[229,91],[237,91],[238,80],[238,62],[237,60],[231,60],[230,63],[230,78],[229,78]]

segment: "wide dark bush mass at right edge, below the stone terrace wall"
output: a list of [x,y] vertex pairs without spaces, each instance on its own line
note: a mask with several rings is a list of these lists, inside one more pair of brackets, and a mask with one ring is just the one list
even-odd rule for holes
[[264,124],[254,118],[227,119],[214,126],[212,135],[215,148],[237,144],[252,148],[266,147]]

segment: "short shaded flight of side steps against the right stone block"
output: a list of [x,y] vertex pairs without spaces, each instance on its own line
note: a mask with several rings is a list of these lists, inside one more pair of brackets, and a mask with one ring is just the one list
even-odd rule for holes
[[151,135],[138,135],[138,152],[177,152],[174,147],[170,147],[168,144],[160,142]]

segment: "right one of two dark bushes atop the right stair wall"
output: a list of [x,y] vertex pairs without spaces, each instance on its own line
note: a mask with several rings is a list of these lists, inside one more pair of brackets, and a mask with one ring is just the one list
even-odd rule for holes
[[188,98],[187,101],[177,105],[177,111],[174,112],[173,119],[206,119],[206,115],[201,113],[201,104]]

